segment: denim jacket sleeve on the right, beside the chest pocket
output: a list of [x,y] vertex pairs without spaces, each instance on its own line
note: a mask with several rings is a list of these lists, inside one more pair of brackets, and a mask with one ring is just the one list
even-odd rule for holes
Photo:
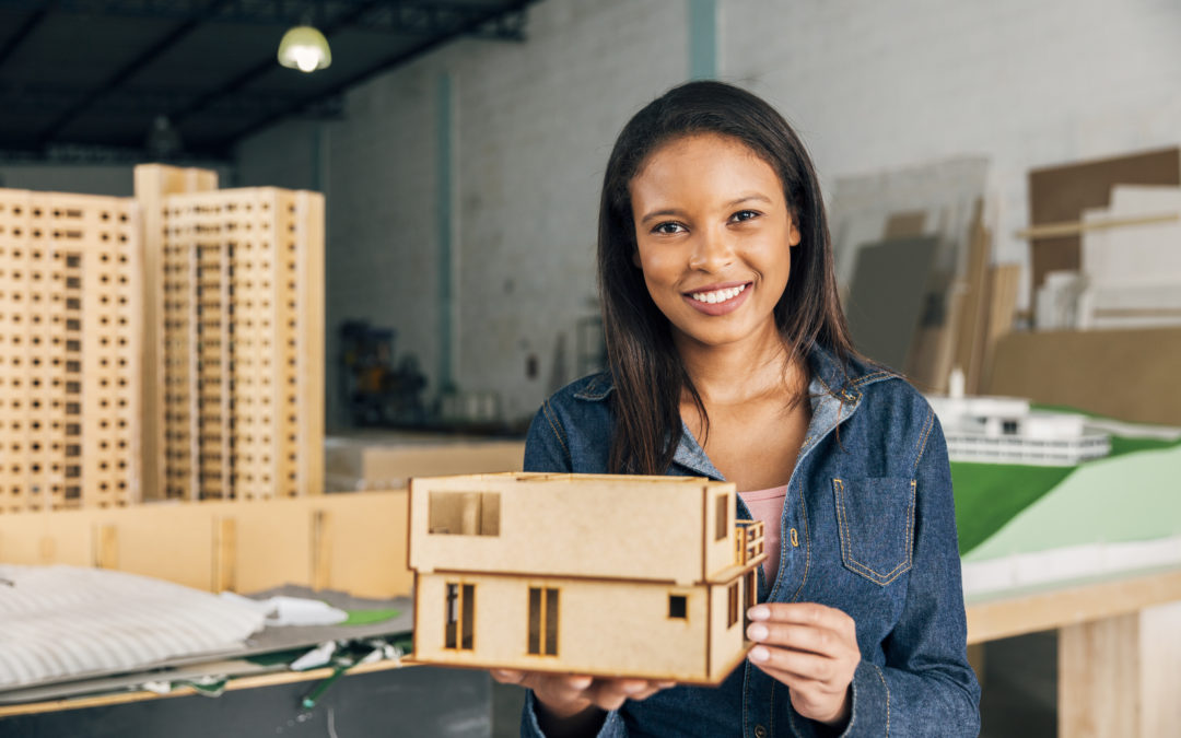
[[906,605],[883,644],[886,666],[862,658],[854,673],[853,710],[842,733],[849,738],[977,736],[980,730],[980,686],[965,648],[947,445],[939,420],[931,419],[925,449],[915,461],[914,559]]

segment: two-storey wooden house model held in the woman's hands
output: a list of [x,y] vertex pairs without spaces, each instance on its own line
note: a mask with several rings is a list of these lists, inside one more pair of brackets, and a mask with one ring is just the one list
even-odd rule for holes
[[766,557],[735,495],[691,477],[411,479],[413,659],[720,683],[751,645]]

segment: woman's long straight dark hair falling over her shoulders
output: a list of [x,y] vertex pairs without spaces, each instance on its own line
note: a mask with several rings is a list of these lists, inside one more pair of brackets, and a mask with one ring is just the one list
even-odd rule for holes
[[[778,112],[758,97],[719,81],[692,81],[660,96],[627,122],[607,162],[599,207],[599,293],[607,360],[615,384],[615,432],[608,466],[615,474],[664,474],[681,437],[680,398],[687,391],[709,427],[697,388],[673,346],[632,257],[635,226],[628,189],[657,149],[693,133],[736,138],[778,174],[801,241],[775,306],[789,360],[816,345],[841,366],[854,354],[836,290],[824,203],[811,159]],[[784,243],[783,248],[788,248]],[[807,361],[800,363],[807,366]]]

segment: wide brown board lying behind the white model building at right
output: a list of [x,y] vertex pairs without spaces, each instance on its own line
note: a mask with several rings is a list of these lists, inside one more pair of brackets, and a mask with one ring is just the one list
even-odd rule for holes
[[1181,328],[1011,333],[987,394],[1070,405],[1121,420],[1181,425]]

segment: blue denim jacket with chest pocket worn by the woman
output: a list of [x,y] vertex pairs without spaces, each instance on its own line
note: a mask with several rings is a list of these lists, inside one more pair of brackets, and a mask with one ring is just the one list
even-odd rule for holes
[[[861,662],[844,736],[976,736],[980,687],[967,664],[951,471],[934,412],[881,367],[809,355],[811,423],[781,521],[779,570],[759,602],[818,602],[856,622]],[[526,471],[607,471],[609,374],[547,400]],[[670,475],[723,481],[685,429]],[[750,518],[738,499],[738,518]],[[521,734],[542,736],[533,693]],[[608,713],[601,737],[822,736],[788,687],[744,661],[716,688],[677,686]]]

